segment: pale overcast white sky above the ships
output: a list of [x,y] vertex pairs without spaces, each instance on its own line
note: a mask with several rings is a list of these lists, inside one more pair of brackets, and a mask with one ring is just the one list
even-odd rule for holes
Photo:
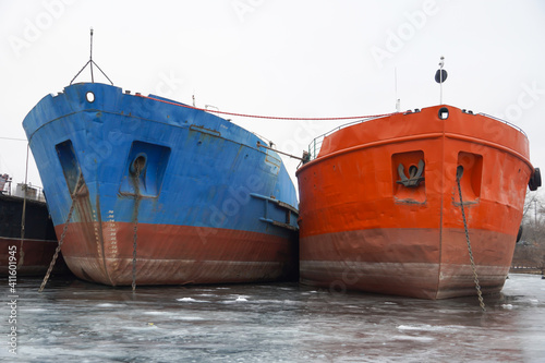
[[[25,138],[26,113],[69,85],[89,27],[114,85],[265,116],[386,113],[396,96],[402,110],[438,105],[444,56],[444,104],[519,125],[545,168],[545,1],[0,0],[0,137]],[[343,123],[232,120],[298,156]],[[24,181],[25,155],[0,138],[0,172]],[[296,183],[299,161],[284,161]],[[32,158],[28,180],[40,184]]]

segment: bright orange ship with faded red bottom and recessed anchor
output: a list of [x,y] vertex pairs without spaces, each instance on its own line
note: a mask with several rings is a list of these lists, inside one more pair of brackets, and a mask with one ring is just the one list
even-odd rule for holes
[[526,185],[541,186],[522,130],[441,105],[340,128],[318,147],[296,172],[301,282],[446,299],[474,294],[475,271],[483,293],[501,290]]

